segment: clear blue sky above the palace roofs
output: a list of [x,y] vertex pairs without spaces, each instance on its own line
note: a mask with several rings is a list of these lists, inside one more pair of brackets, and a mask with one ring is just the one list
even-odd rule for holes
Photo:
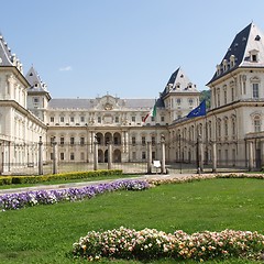
[[263,0],[12,0],[0,32],[53,98],[157,98],[179,66],[199,90]]

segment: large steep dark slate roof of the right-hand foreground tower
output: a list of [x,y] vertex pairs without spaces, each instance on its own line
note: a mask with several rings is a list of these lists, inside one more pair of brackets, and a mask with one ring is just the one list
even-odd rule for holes
[[[250,52],[254,50],[258,52],[257,62],[250,61]],[[233,67],[230,66],[230,57],[232,55],[235,59],[235,65]],[[226,70],[223,70],[224,61],[228,62],[228,68]],[[255,24],[249,24],[235,35],[219,66],[220,73],[218,74],[218,70],[216,70],[213,77],[207,85],[239,67],[264,67],[264,35]]]

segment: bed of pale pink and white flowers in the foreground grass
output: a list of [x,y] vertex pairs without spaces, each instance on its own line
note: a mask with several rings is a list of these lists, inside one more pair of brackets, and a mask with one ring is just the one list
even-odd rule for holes
[[101,257],[152,260],[172,257],[176,260],[212,260],[234,257],[261,257],[264,235],[250,231],[224,230],[174,234],[144,229],[135,231],[121,227],[106,232],[88,232],[73,245],[76,257],[97,261]]

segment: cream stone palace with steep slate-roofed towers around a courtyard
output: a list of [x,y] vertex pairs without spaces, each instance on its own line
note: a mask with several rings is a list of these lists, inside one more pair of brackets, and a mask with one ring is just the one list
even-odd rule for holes
[[[34,67],[26,75],[19,58],[0,36],[0,173],[35,165],[40,139],[43,158],[53,158],[51,143],[58,144],[59,162],[166,162],[253,169],[264,163],[264,35],[253,23],[237,34],[216,74],[207,84],[211,107],[206,116],[186,118],[200,103],[200,92],[182,68],[172,74],[155,99],[125,99],[111,95],[90,99],[52,99]],[[147,117],[154,108],[156,114]],[[146,118],[147,117],[147,118]],[[146,119],[145,119],[146,118]],[[200,154],[198,154],[198,144]]]

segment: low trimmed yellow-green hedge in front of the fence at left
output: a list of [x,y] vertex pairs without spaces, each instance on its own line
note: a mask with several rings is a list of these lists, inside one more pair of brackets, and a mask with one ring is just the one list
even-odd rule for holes
[[64,174],[48,174],[38,176],[1,176],[0,185],[11,185],[11,184],[38,184],[43,182],[52,182],[56,179],[82,179],[92,178],[99,176],[110,176],[110,175],[122,175],[122,169],[100,169],[90,172],[75,172],[75,173],[64,173]]

